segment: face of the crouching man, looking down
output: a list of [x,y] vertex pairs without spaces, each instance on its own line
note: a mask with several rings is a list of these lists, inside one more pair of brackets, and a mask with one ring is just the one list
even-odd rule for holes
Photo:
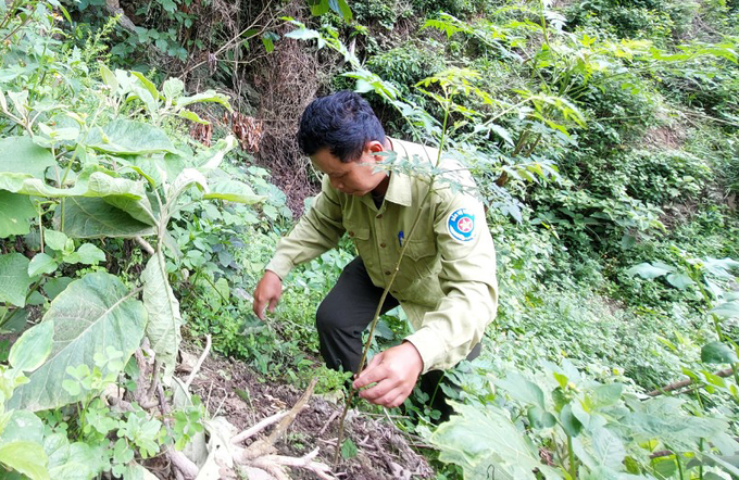
[[375,165],[384,160],[384,156],[375,155],[381,151],[381,143],[369,142],[359,160],[342,163],[328,149],[321,149],[311,155],[311,161],[316,168],[328,175],[331,187],[350,195],[362,197],[373,191],[387,178],[387,173],[384,170],[373,173]]

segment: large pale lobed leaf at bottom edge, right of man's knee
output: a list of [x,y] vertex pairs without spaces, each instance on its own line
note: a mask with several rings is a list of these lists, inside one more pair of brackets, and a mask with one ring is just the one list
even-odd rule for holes
[[[537,449],[496,407],[480,409],[452,402],[454,415],[431,434],[439,459],[460,465],[465,478],[489,478],[490,471],[514,479],[534,479],[534,469],[546,478],[562,478],[539,460]],[[501,477],[505,478],[505,477]]]

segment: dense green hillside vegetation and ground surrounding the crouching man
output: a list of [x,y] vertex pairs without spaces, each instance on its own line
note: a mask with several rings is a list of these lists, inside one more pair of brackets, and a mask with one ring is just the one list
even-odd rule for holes
[[[0,38],[3,478],[739,477],[736,0],[8,0]],[[337,444],[351,241],[250,312],[340,89],[473,170],[500,308],[450,421]]]

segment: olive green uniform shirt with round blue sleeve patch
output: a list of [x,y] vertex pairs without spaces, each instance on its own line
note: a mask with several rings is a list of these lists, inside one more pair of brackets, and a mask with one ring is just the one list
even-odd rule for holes
[[[417,160],[436,162],[438,150],[390,141],[399,160],[417,155]],[[464,359],[483,339],[498,303],[492,238],[481,202],[468,193],[474,180],[451,159],[443,159],[440,168],[442,179],[435,181],[425,204],[421,202],[429,189],[428,178],[392,172],[379,209],[371,194],[342,193],[325,176],[313,206],[280,239],[266,266],[285,278],[296,265],[335,248],[346,231],[372,282],[385,288],[406,241],[390,293],[415,328],[405,340],[421,354],[423,372],[450,368]],[[409,237],[418,213],[416,230]]]

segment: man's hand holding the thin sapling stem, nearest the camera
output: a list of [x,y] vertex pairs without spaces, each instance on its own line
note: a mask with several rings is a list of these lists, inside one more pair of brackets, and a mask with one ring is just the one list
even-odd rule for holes
[[375,383],[362,390],[360,396],[376,405],[396,407],[411,394],[423,368],[424,362],[416,348],[403,342],[375,355],[354,380],[354,388]]

